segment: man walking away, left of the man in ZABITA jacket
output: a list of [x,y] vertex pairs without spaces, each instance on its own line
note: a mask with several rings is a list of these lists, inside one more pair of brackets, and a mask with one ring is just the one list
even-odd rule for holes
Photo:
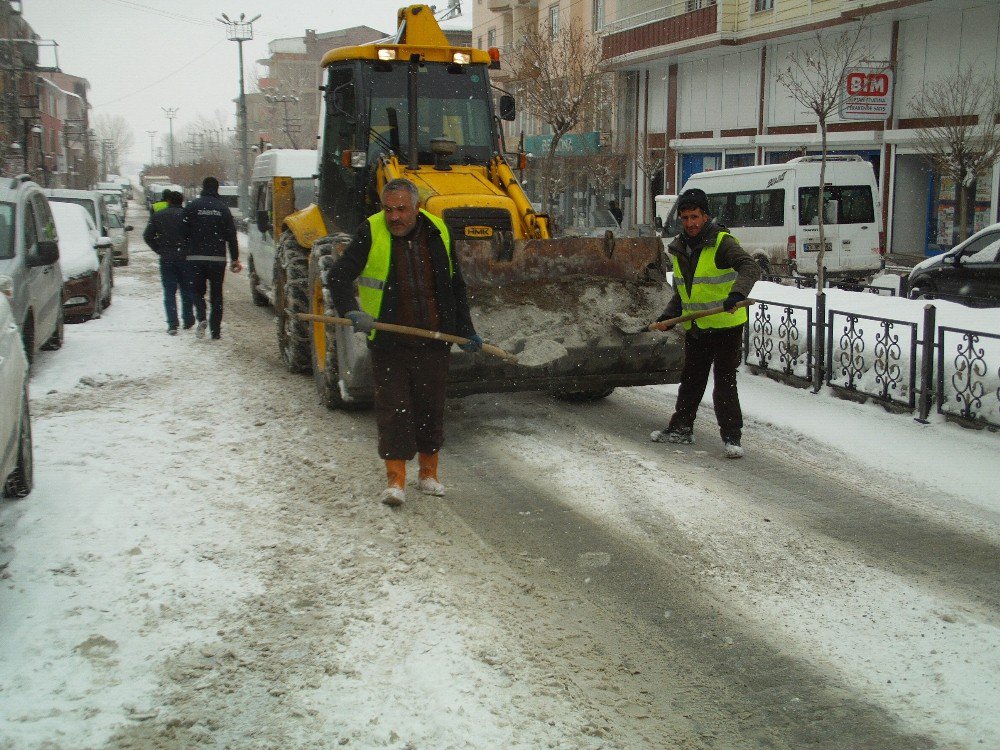
[[184,330],[194,325],[191,300],[191,275],[184,259],[184,196],[168,190],[167,207],[153,214],[142,238],[160,256],[160,282],[163,284],[163,308],[167,313],[167,333],[177,335],[177,292],[181,293]]

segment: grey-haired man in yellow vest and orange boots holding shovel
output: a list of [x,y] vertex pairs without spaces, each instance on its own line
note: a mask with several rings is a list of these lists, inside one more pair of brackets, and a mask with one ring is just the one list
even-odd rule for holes
[[[450,345],[443,341],[375,331],[375,321],[456,334],[478,351],[458,258],[441,219],[418,210],[416,185],[397,179],[382,190],[382,211],[362,222],[354,240],[327,272],[330,298],[354,330],[368,334],[378,452],[388,487],[380,499],[401,505],[406,462],[419,454],[419,488],[444,495],[438,451],[444,443],[444,392]],[[358,294],[354,298],[354,279]]]

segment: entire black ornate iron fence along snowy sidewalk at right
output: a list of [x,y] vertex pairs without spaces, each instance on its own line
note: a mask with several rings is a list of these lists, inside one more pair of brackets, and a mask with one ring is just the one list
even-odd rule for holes
[[[922,323],[823,309],[817,320],[812,307],[768,300],[749,316],[743,361],[755,373],[800,387],[826,383],[845,398],[916,410],[920,421],[936,403],[948,419],[1000,427],[1000,335],[938,326],[934,305]],[[823,348],[814,356],[817,335]]]

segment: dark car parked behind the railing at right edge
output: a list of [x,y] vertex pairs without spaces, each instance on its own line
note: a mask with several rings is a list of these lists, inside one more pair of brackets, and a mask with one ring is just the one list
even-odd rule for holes
[[943,299],[971,307],[1000,306],[1000,224],[910,271],[910,299]]

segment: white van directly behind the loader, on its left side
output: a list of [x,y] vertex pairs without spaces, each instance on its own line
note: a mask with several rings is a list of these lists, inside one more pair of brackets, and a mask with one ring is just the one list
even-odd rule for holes
[[316,200],[317,152],[275,148],[254,161],[247,224],[247,271],[254,304],[274,303],[274,256],[285,217]]

